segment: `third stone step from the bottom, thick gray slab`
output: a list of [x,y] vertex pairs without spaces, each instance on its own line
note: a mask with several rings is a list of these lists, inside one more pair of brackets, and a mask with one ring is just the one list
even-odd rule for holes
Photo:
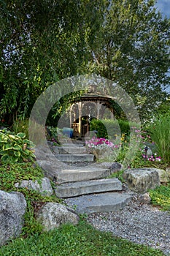
[[90,181],[93,179],[105,178],[109,175],[109,169],[85,167],[76,170],[61,170],[57,173],[57,181],[58,183]]

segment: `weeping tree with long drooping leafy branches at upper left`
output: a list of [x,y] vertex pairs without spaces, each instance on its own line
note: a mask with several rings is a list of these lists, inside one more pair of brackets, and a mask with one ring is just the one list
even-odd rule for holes
[[107,1],[0,0],[0,115],[29,115],[39,94],[84,71]]

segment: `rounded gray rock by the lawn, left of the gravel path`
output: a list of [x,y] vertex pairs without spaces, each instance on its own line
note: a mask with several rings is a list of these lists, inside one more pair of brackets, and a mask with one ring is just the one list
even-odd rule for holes
[[53,230],[65,223],[77,225],[79,222],[79,217],[74,210],[60,203],[46,203],[38,211],[36,219],[43,225],[44,231]]

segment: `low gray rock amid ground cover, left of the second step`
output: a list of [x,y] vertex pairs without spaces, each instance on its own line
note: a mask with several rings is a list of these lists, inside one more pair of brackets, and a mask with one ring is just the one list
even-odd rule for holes
[[21,181],[20,183],[16,183],[15,187],[17,188],[23,188],[27,187],[28,189],[36,190],[36,192],[39,192],[42,195],[53,195],[53,188],[50,184],[49,178],[42,178],[40,182],[38,181]]

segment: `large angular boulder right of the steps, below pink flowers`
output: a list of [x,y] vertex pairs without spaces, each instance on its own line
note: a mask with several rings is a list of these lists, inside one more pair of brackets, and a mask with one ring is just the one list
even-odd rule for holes
[[161,185],[158,169],[155,168],[128,169],[123,173],[123,178],[130,189],[139,193]]

